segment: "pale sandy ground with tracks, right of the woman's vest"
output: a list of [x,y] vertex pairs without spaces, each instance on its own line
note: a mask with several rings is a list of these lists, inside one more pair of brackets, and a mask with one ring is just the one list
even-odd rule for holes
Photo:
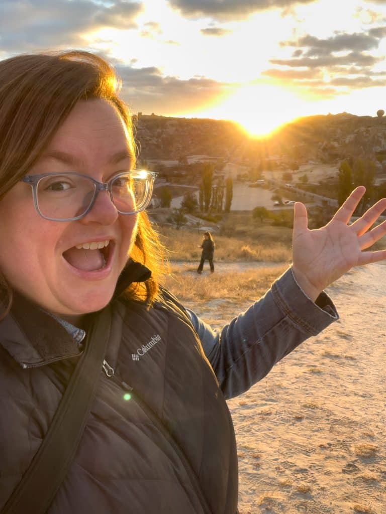
[[[385,277],[342,277],[327,291],[341,319],[229,401],[241,514],[386,514]],[[246,307],[197,311],[219,326]]]

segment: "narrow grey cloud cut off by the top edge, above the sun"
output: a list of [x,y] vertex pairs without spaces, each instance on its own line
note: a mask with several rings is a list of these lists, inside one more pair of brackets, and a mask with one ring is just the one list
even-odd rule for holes
[[188,17],[242,20],[254,12],[311,4],[315,0],[168,0],[171,7]]

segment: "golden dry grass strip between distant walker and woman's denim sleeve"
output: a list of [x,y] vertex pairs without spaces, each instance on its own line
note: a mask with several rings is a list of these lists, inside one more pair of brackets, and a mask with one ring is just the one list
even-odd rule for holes
[[164,284],[181,301],[207,301],[226,298],[227,301],[254,301],[263,295],[287,266],[279,268],[259,268],[256,270],[213,273],[200,275],[181,272],[172,268]]

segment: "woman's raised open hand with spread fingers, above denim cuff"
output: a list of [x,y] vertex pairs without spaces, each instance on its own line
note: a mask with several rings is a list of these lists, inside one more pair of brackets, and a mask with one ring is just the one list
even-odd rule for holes
[[294,205],[292,269],[297,283],[313,301],[354,266],[386,259],[386,250],[362,251],[386,234],[386,221],[369,230],[386,209],[386,198],[348,225],[365,190],[357,187],[331,221],[317,230],[307,228],[306,207],[300,202]]

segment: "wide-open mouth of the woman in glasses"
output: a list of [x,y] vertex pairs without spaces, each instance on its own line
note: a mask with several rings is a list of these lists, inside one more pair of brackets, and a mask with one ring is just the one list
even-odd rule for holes
[[84,243],[63,252],[64,259],[74,268],[82,271],[99,271],[111,261],[114,242],[111,240]]

